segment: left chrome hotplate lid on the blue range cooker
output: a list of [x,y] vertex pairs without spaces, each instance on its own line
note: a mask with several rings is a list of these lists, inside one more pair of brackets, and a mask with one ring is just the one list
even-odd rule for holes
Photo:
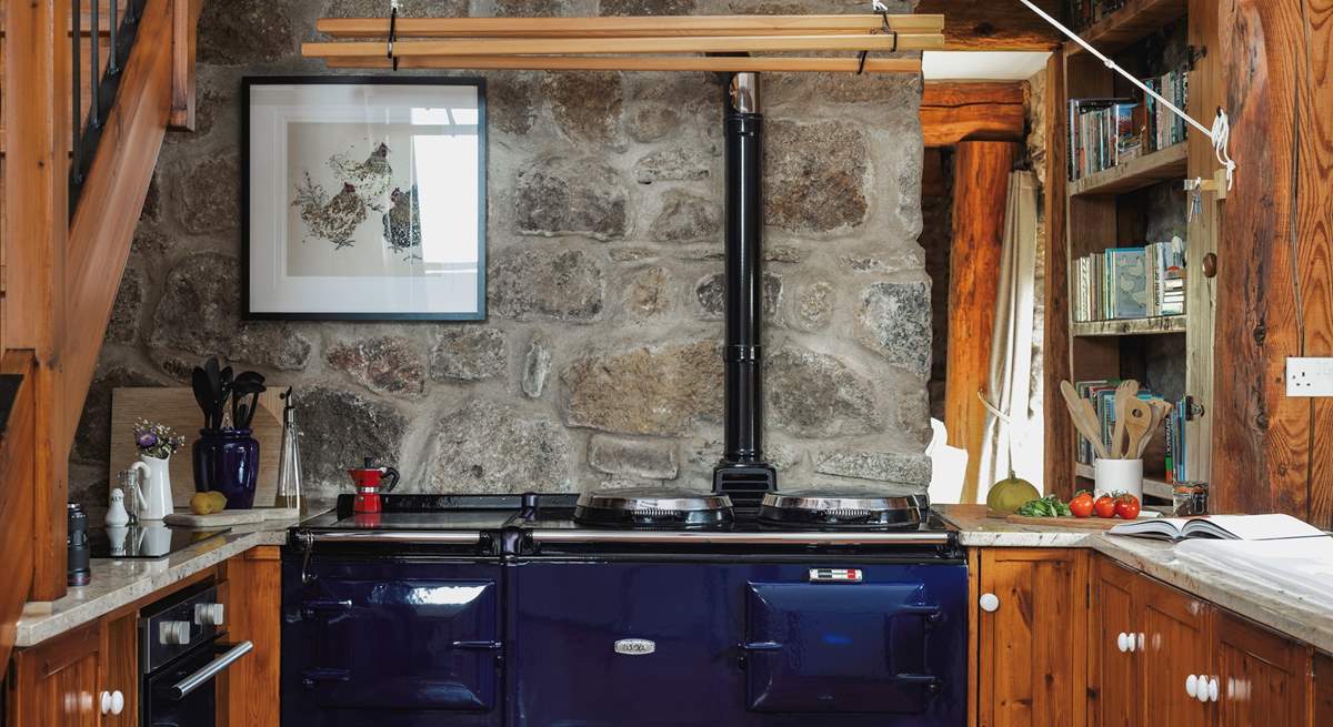
[[736,519],[732,498],[672,487],[624,487],[579,495],[575,521],[601,527],[718,527]]

